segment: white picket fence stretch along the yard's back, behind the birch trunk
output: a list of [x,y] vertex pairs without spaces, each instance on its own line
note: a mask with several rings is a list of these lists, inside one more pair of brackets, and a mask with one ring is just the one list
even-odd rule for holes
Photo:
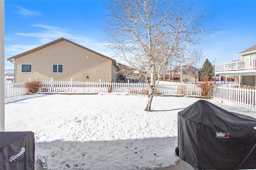
[[[43,81],[39,92],[74,92],[74,93],[99,93],[99,92],[128,92],[134,94],[147,94],[146,83],[122,82],[78,82],[73,81]],[[177,82],[160,82],[156,94],[183,94],[200,96],[201,89],[197,84]]]

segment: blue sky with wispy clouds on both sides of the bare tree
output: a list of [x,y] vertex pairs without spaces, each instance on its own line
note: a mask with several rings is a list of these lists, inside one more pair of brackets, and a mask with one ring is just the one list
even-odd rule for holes
[[[211,4],[221,31],[200,47],[211,63],[240,58],[235,55],[256,45],[256,1],[216,0]],[[103,16],[108,11],[100,0],[5,0],[5,60],[61,37],[109,56],[101,43]],[[204,59],[204,61],[205,61]],[[117,59],[118,60],[118,59]],[[10,61],[5,69],[13,69]]]

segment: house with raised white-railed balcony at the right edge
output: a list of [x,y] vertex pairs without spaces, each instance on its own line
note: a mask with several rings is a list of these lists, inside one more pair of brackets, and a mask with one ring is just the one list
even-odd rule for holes
[[238,76],[239,86],[256,86],[256,45],[236,56],[240,56],[240,60],[215,64],[215,74]]

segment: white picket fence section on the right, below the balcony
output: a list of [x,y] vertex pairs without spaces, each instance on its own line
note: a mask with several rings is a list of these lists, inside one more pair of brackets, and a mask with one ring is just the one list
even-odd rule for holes
[[256,90],[253,88],[234,88],[230,86],[216,86],[213,97],[218,100],[232,102],[235,104],[256,106]]

